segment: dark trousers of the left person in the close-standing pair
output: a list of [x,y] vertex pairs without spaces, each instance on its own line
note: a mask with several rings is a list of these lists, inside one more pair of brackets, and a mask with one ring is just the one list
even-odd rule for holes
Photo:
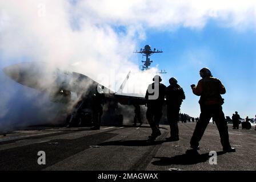
[[160,133],[159,122],[162,117],[161,106],[147,106],[146,118],[152,130],[152,135]]

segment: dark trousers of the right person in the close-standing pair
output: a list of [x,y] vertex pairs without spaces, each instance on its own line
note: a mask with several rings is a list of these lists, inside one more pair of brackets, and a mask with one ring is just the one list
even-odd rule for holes
[[167,120],[170,124],[171,138],[179,137],[179,105],[167,105]]

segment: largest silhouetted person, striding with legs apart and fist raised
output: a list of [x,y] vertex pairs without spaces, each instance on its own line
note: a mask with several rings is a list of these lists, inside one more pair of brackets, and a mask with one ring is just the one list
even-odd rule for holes
[[195,95],[201,96],[199,100],[201,114],[190,140],[190,147],[193,148],[192,151],[199,149],[199,141],[201,140],[211,117],[213,117],[219,130],[223,151],[235,152],[235,148],[231,148],[229,143],[227,121],[222,111],[222,104],[224,102],[221,94],[225,94],[226,89],[218,78],[214,78],[211,75],[208,68],[201,69],[199,73],[202,79],[198,81],[197,86],[194,84],[191,85],[191,89]]

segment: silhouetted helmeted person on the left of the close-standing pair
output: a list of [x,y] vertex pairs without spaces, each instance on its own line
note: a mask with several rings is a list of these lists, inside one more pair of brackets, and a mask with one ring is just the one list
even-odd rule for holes
[[146,118],[152,130],[152,134],[149,136],[150,140],[155,140],[161,135],[158,126],[162,117],[162,107],[166,92],[166,86],[160,83],[162,81],[160,76],[154,76],[153,81],[153,84],[148,86],[145,96],[147,103]]

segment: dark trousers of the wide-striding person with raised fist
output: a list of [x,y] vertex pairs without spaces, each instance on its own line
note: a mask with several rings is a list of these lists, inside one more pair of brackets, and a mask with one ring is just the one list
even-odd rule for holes
[[200,107],[201,107],[201,114],[199,117],[199,121],[195,126],[193,136],[190,140],[191,148],[197,148],[199,146],[199,141],[203,137],[203,133],[205,133],[205,129],[211,117],[213,117],[216,123],[216,126],[219,130],[222,147],[230,148],[229,131],[228,131],[225,115],[222,111],[222,106],[221,105],[200,105]]

